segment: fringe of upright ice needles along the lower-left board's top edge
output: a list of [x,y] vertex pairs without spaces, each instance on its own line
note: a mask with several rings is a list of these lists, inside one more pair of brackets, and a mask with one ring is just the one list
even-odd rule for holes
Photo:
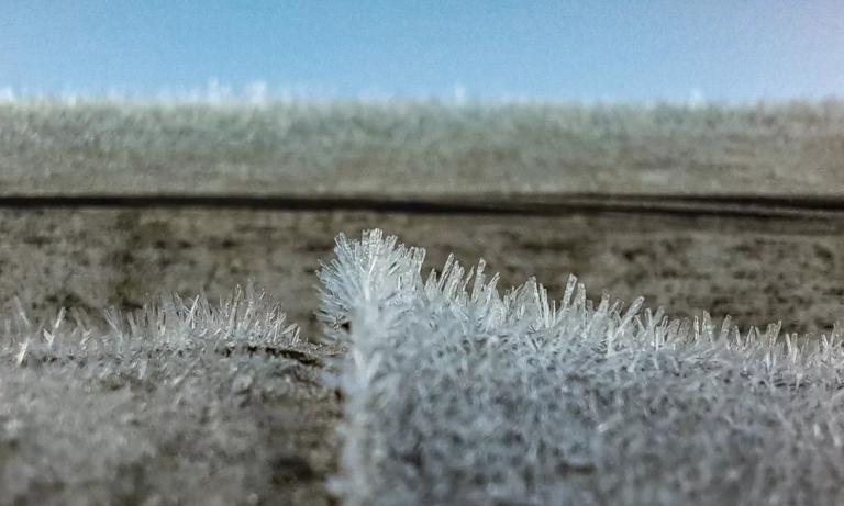
[[[78,310],[62,307],[51,321],[33,324],[15,299],[13,318],[2,319],[4,339],[0,358],[26,361],[107,364],[134,370],[143,376],[153,358],[174,359],[203,353],[274,352],[301,342],[300,328],[287,323],[281,306],[257,291],[254,280],[237,285],[227,297],[212,304],[204,292],[191,300],[177,293],[160,295],[141,310],[123,313],[103,310],[107,328],[98,328]],[[166,363],[163,363],[166,366]]]

